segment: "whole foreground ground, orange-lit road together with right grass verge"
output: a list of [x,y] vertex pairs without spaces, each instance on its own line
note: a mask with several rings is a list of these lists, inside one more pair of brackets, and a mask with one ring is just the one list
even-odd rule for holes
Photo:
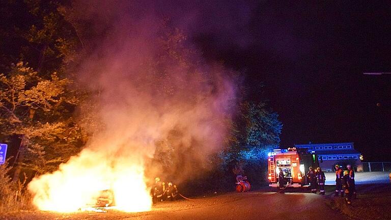
[[[249,193],[228,193],[197,200],[159,203],[150,212],[107,213],[79,212],[59,214],[25,211],[0,216],[0,219],[391,219],[391,184],[357,185],[358,199],[348,206],[343,198],[333,197],[334,186],[326,186],[326,195],[289,189],[286,194],[270,192],[269,188]],[[349,217],[351,218],[349,218]]]

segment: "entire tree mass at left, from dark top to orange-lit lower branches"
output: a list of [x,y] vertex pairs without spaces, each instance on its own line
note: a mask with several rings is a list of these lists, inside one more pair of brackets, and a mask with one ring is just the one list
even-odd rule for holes
[[59,10],[63,4],[25,0],[0,6],[7,23],[0,28],[0,138],[19,137],[15,181],[21,169],[57,169],[86,139],[73,117],[81,93],[70,89],[79,41]]

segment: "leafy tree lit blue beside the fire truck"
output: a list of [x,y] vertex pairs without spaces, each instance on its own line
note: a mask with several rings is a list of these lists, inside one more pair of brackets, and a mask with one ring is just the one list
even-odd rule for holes
[[262,184],[266,178],[267,153],[280,145],[282,127],[277,113],[265,102],[241,102],[226,147],[219,154],[218,172],[225,172],[225,178],[231,181],[233,175],[246,175],[253,184]]

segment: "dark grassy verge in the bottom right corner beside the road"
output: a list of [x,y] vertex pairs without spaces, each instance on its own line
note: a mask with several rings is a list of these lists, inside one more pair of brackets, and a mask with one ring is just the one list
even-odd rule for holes
[[326,203],[352,219],[391,219],[391,184],[358,185],[357,199],[351,205],[340,197]]

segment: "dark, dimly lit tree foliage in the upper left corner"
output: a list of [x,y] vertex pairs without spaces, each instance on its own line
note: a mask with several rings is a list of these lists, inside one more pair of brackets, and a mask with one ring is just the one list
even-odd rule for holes
[[0,71],[18,60],[29,62],[39,75],[60,72],[75,61],[79,40],[73,26],[60,13],[64,1],[4,1],[0,18]]

